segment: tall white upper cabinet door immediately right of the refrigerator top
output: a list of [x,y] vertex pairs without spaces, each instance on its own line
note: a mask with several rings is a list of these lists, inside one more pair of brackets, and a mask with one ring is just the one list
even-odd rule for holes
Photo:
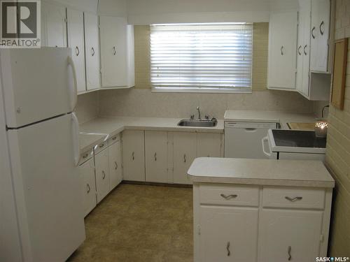
[[78,92],[86,90],[85,85],[85,50],[84,50],[84,17],[83,12],[67,10],[68,47],[76,66]]

